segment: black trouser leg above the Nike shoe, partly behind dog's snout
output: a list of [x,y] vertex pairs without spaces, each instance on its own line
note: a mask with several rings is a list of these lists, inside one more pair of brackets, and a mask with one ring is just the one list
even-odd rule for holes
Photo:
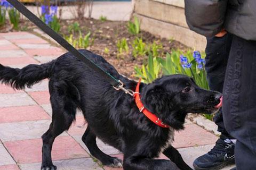
[[[232,37],[227,33],[224,37],[207,38],[205,70],[211,90],[222,92]],[[215,114],[213,121],[218,125],[221,138],[233,139],[225,129],[221,110]]]

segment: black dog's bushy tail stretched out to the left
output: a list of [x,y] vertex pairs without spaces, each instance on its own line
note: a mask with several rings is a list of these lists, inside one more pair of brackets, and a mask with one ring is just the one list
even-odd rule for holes
[[54,63],[55,60],[41,65],[30,64],[22,69],[13,69],[0,64],[0,82],[18,90],[24,89],[25,86],[31,87],[51,77],[51,68]]

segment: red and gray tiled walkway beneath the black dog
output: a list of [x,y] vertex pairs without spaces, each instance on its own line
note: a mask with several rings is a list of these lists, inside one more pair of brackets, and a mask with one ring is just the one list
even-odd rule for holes
[[[12,67],[51,61],[63,51],[28,32],[0,33],[0,63]],[[0,170],[34,170],[41,166],[41,135],[49,128],[51,107],[47,80],[31,89],[16,90],[0,85]],[[93,159],[81,140],[86,129],[82,115],[54,142],[52,159],[58,169],[112,169]],[[209,151],[217,137],[196,124],[176,133],[173,146],[191,166],[193,160]],[[98,141],[103,152],[122,158],[116,149]],[[161,155],[162,158],[165,158]],[[229,169],[229,168],[227,168]]]

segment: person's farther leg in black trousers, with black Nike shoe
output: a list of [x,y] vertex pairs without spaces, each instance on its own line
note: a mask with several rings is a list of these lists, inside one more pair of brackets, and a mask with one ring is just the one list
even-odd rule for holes
[[[232,38],[226,31],[206,38],[205,70],[211,90],[222,92]],[[235,164],[235,140],[225,129],[221,110],[214,115],[213,121],[221,132],[220,138],[209,152],[195,159],[193,166],[196,170],[218,170]]]

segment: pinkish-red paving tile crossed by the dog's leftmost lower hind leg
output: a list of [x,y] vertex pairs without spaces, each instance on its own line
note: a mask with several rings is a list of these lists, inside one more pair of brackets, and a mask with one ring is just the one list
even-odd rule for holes
[[[20,164],[41,162],[42,139],[4,142],[5,147]],[[89,155],[70,136],[57,137],[52,147],[52,160],[85,158]]]

